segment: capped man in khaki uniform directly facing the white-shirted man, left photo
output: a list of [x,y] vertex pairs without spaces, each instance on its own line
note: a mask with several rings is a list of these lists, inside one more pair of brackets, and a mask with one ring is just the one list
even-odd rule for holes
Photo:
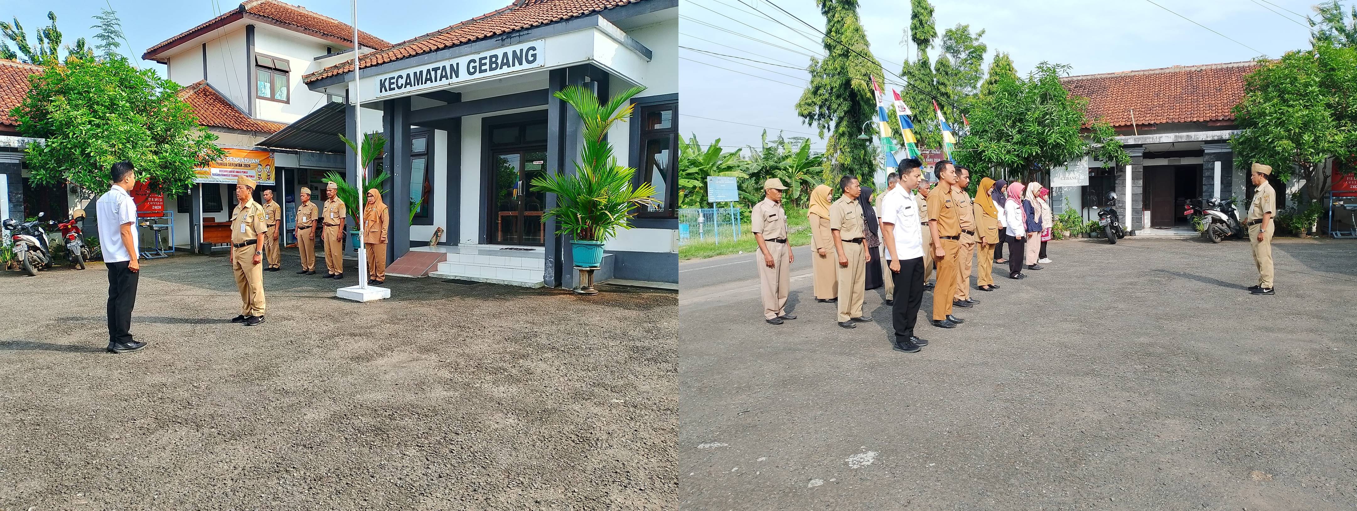
[[240,316],[231,323],[254,327],[263,323],[263,206],[254,202],[254,179],[236,178],[236,202],[231,211],[231,270],[240,290]]

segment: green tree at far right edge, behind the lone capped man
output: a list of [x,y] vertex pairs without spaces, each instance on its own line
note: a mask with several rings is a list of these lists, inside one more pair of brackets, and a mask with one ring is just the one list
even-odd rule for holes
[[1235,163],[1262,163],[1277,179],[1304,179],[1301,205],[1330,183],[1324,163],[1357,155],[1357,47],[1316,42],[1311,50],[1258,58],[1234,108],[1242,133],[1231,138]]

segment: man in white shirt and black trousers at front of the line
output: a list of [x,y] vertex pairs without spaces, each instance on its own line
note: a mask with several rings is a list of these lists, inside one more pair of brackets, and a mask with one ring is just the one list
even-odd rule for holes
[[892,324],[896,329],[896,348],[916,352],[928,342],[915,336],[919,305],[924,297],[924,248],[920,230],[919,205],[913,190],[923,179],[923,163],[906,159],[900,163],[900,184],[886,192],[881,202],[881,237],[890,258],[890,274],[896,281],[892,297]]

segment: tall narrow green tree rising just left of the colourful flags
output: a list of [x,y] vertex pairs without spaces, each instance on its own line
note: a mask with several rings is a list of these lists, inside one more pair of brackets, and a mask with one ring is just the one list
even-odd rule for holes
[[810,87],[797,102],[797,114],[826,140],[825,159],[840,175],[866,176],[877,169],[877,148],[859,140],[862,126],[877,118],[868,76],[882,81],[881,62],[871,56],[858,19],[858,0],[817,0],[825,16],[825,58],[811,58]]

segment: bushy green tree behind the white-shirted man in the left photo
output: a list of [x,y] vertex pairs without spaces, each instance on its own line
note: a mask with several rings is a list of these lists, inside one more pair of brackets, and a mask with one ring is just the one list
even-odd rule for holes
[[20,134],[45,138],[26,149],[38,183],[107,190],[109,167],[126,160],[151,191],[183,195],[194,167],[223,156],[212,144],[217,137],[175,96],[178,84],[123,58],[47,61],[28,83],[28,95],[9,114]]

